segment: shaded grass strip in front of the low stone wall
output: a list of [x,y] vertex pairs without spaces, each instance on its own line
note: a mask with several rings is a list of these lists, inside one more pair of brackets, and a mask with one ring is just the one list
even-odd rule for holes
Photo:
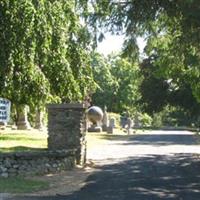
[[0,193],[30,193],[49,188],[49,183],[20,177],[0,179]]

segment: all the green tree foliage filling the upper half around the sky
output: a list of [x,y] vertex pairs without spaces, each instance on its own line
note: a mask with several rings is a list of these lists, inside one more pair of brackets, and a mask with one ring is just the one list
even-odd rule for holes
[[[33,109],[83,101],[98,85],[93,103],[109,111],[133,114],[143,108],[153,114],[169,104],[197,118],[198,5],[198,0],[2,0],[0,95]],[[102,28],[124,33],[123,58],[90,55],[104,37]],[[138,36],[147,40],[140,68]]]

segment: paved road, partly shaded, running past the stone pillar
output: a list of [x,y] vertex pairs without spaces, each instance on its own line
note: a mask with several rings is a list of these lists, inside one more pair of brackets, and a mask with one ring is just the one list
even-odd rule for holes
[[199,200],[200,146],[190,132],[113,136],[88,153],[96,169],[66,196],[15,200]]

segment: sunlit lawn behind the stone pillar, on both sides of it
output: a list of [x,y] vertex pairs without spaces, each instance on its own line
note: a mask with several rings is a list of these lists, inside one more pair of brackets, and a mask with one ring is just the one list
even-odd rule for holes
[[[105,143],[107,140],[123,139],[127,134],[115,129],[114,134],[87,133],[87,145],[89,148]],[[2,130],[0,131],[0,153],[42,150],[47,148],[47,133],[37,130]]]

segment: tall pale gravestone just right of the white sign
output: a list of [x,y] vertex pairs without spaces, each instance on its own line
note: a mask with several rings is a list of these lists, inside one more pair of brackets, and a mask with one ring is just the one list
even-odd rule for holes
[[31,126],[28,121],[29,107],[27,105],[19,105],[17,107],[17,129],[30,130]]

